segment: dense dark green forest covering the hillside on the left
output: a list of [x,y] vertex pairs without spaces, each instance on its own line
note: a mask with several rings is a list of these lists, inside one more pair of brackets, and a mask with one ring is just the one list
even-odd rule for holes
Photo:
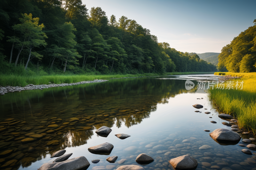
[[135,20],[87,9],[81,0],[1,0],[3,73],[135,74],[209,72],[198,55],[158,42]]

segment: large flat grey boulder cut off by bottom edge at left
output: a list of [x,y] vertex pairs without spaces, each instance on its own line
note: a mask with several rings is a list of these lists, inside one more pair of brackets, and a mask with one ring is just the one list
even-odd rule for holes
[[84,156],[68,159],[63,162],[45,163],[38,170],[78,170],[90,166]]

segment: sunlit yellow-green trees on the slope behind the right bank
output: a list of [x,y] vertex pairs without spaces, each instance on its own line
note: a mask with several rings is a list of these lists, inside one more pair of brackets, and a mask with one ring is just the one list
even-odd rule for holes
[[256,19],[254,26],[241,32],[237,37],[221,49],[218,56],[218,69],[229,72],[256,71]]

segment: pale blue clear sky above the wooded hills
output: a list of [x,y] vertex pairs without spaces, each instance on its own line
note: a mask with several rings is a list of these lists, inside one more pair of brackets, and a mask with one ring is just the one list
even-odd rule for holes
[[182,52],[218,52],[253,25],[256,0],[83,0],[101,7],[108,18],[134,19],[159,42]]

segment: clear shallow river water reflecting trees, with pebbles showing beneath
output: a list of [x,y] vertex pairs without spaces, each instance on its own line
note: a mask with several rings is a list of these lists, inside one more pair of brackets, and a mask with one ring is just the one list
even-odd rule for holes
[[[248,135],[243,135],[235,145],[220,145],[209,136],[215,129],[231,128],[221,124],[228,121],[218,117],[217,110],[207,101],[204,90],[197,90],[196,87],[185,89],[188,79],[197,84],[198,80],[217,80],[217,76],[111,79],[102,83],[13,92],[1,96],[0,126],[6,129],[0,133],[0,150],[13,150],[13,153],[2,156],[0,164],[3,166],[9,160],[18,159],[11,166],[2,168],[35,170],[56,159],[50,158],[53,152],[65,149],[65,154],[73,153],[69,159],[85,156],[91,164],[88,170],[113,170],[121,165],[139,165],[135,159],[140,153],[154,158],[154,162],[143,165],[146,170],[172,169],[168,160],[186,154],[197,159],[197,170],[255,168],[256,161],[252,155],[241,152],[248,148],[238,146],[243,143],[243,138],[249,138]],[[197,103],[207,110],[192,107]],[[136,113],[135,110],[140,111]],[[196,110],[202,113],[194,112]],[[205,111],[211,114],[204,114]],[[5,121],[9,118],[16,121]],[[63,125],[64,122],[69,123]],[[56,124],[56,127],[48,129],[51,124]],[[87,126],[92,129],[81,130]],[[95,133],[101,126],[112,129],[108,137]],[[51,129],[54,131],[49,131]],[[15,140],[30,132],[43,133],[43,137],[34,138],[27,144]],[[115,136],[119,133],[131,137],[121,140]],[[53,140],[57,141],[50,144]],[[89,147],[105,142],[114,145],[110,155],[96,155],[88,151]],[[203,145],[210,148],[199,149]],[[107,162],[109,156],[118,156],[116,163]],[[100,159],[100,162],[93,164],[93,159]],[[127,160],[119,164],[121,159]]]

